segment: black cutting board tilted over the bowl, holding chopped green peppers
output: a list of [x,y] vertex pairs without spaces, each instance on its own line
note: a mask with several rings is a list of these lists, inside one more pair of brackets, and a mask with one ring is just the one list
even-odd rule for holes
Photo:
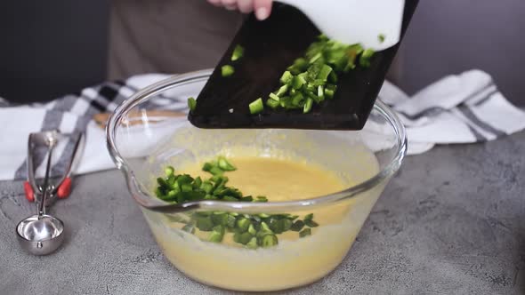
[[[405,2],[402,35],[417,3],[418,0]],[[266,100],[270,92],[279,89],[282,73],[296,58],[303,56],[319,34],[319,29],[303,12],[286,4],[275,4],[268,20],[259,21],[254,15],[249,16],[198,95],[197,108],[189,115],[191,124],[199,128],[223,129],[362,129],[400,44],[376,52],[369,68],[357,67],[348,74],[339,75],[334,100],[314,105],[308,114],[303,114],[301,109],[267,107],[258,115],[249,112],[250,102],[260,97]],[[238,44],[245,48],[244,56],[231,61]],[[223,65],[233,66],[235,73],[223,77]]]

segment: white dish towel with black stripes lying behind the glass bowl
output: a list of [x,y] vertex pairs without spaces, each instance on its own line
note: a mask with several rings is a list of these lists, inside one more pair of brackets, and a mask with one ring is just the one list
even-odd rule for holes
[[[3,126],[0,180],[26,179],[28,134],[53,129],[64,133],[85,132],[85,148],[75,174],[114,168],[106,150],[105,133],[93,122],[93,115],[112,112],[133,92],[166,77],[133,76],[123,82],[86,88],[46,104],[12,106],[0,100],[0,126]],[[411,98],[385,82],[379,97],[407,126],[409,155],[424,153],[436,144],[495,140],[525,129],[525,113],[505,100],[491,77],[479,70],[447,76]],[[151,107],[186,112],[186,99],[170,98]],[[57,146],[54,155],[59,156],[52,162],[52,175],[61,175],[72,149],[72,141]],[[41,177],[44,155],[36,153],[34,163],[38,167],[36,175]]]

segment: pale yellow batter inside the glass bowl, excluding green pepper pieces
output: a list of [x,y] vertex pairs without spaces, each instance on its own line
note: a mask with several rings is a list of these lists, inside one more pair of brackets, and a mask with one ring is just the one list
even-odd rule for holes
[[[228,186],[238,187],[244,195],[265,195],[269,202],[308,199],[351,187],[331,171],[300,159],[228,156],[238,170],[226,172]],[[178,169],[178,173],[209,178],[202,163]],[[374,164],[370,165],[376,170]],[[319,227],[312,235],[299,238],[289,231],[279,236],[279,245],[249,250],[238,243],[208,243],[208,233],[190,235],[166,222],[166,216],[144,211],[159,245],[175,267],[200,282],[238,291],[275,291],[312,283],[327,275],[344,258],[359,232],[382,187],[359,199],[290,211],[304,216],[314,213]],[[202,237],[205,241],[199,239]]]

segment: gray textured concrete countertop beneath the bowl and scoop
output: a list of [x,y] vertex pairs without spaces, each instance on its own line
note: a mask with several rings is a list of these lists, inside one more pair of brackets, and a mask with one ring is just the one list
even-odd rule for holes
[[[343,264],[290,294],[525,292],[525,132],[408,156]],[[21,251],[16,223],[34,209],[0,183],[1,294],[219,294],[163,257],[118,171],[77,177],[52,207],[60,251]]]

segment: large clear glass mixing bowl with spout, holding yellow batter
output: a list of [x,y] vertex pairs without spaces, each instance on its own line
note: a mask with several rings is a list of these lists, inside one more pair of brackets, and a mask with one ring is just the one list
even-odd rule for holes
[[[351,248],[384,186],[400,169],[407,149],[405,129],[392,110],[376,101],[364,129],[312,131],[285,129],[203,130],[179,112],[197,97],[211,70],[173,76],[136,92],[109,118],[109,154],[124,173],[127,187],[158,245],[174,267],[201,283],[237,291],[276,291],[312,283],[337,267]],[[155,196],[156,179],[167,164],[235,155],[293,155],[335,174],[347,188],[331,195],[287,202],[251,203],[204,200],[174,204]],[[322,186],[319,183],[319,186]],[[271,196],[269,196],[271,199]],[[298,237],[289,231],[277,245],[256,249],[240,243],[212,243],[194,231],[194,217],[227,214],[271,223],[282,214],[303,219],[313,213],[319,227]],[[287,215],[287,216],[290,216]],[[226,233],[224,239],[233,233]]]

